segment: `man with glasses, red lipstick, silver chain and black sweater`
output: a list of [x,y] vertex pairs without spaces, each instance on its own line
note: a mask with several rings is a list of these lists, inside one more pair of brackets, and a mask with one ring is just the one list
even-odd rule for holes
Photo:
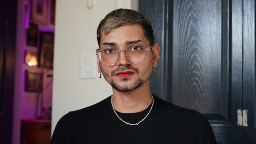
[[99,77],[102,73],[113,95],[64,115],[52,144],[216,143],[203,115],[150,93],[160,47],[147,18],[135,10],[114,10],[101,20],[97,40]]

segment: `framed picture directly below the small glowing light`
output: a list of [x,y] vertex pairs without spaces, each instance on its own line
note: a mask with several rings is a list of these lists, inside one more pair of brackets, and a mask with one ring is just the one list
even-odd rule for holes
[[42,72],[38,70],[26,71],[26,92],[42,92],[43,76]]

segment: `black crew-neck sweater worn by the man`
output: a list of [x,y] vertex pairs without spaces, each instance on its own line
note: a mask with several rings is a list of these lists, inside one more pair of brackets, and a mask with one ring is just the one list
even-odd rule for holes
[[[137,123],[151,105],[139,113],[118,113]],[[215,144],[208,120],[195,110],[181,108],[154,95],[148,117],[130,126],[117,118],[110,96],[87,108],[69,112],[57,123],[51,144]]]

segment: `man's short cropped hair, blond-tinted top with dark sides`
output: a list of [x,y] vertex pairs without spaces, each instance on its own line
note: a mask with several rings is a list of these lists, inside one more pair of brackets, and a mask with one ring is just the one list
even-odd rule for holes
[[142,27],[145,37],[149,40],[149,44],[154,44],[154,34],[149,20],[136,10],[117,9],[108,13],[102,19],[97,28],[97,41],[100,45],[101,33],[106,34],[123,25],[139,24]]

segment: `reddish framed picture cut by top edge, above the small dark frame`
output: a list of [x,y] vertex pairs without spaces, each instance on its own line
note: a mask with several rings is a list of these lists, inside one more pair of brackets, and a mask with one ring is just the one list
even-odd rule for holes
[[32,20],[46,23],[46,14],[47,14],[46,0],[34,0],[32,1],[31,6],[32,6],[32,10],[31,10]]

